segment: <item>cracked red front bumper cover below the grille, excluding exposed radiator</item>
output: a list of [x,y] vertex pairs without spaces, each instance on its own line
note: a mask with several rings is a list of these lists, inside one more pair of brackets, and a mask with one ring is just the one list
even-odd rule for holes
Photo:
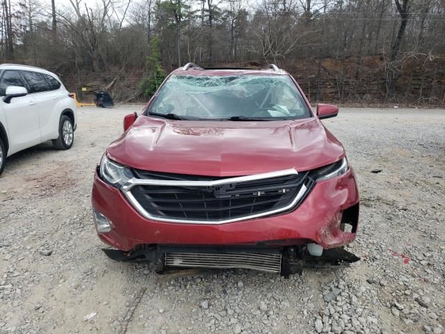
[[[339,247],[355,239],[358,203],[352,169],[340,177],[318,182],[292,212],[221,225],[144,218],[118,189],[103,182],[97,171],[92,187],[92,207],[113,223],[111,231],[98,234],[99,238],[109,246],[126,251],[147,244],[291,246],[316,243],[323,248]],[[345,219],[352,225],[350,232],[341,229]]]

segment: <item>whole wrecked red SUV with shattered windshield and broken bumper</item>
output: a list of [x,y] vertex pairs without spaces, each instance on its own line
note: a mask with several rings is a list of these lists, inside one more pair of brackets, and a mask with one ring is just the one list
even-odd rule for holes
[[359,194],[343,146],[284,70],[173,71],[97,167],[92,207],[114,260],[300,273],[354,262]]

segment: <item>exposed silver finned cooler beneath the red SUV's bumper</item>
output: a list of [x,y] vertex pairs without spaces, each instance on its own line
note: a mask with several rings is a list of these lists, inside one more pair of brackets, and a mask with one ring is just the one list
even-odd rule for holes
[[166,267],[254,269],[280,273],[281,254],[259,253],[165,253]]

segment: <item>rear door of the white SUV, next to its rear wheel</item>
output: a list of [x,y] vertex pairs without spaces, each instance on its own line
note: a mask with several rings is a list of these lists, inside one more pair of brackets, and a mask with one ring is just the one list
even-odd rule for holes
[[[35,102],[38,105],[40,116],[40,134],[42,141],[47,141],[54,136],[54,132],[58,132],[59,117],[56,117],[55,106],[57,102],[57,95],[54,90],[51,90],[51,85],[47,79],[44,78],[43,73],[23,70],[22,74],[29,85],[30,93],[34,96]],[[53,121],[53,122],[51,122]]]

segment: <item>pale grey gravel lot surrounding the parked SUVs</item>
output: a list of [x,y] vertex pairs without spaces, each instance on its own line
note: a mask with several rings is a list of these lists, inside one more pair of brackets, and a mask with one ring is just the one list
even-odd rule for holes
[[[285,280],[256,271],[158,276],[108,260],[93,171],[140,106],[83,108],[74,146],[19,152],[0,177],[0,333],[445,333],[445,111],[342,109],[362,197],[362,257]],[[380,173],[373,171],[381,170]]]

